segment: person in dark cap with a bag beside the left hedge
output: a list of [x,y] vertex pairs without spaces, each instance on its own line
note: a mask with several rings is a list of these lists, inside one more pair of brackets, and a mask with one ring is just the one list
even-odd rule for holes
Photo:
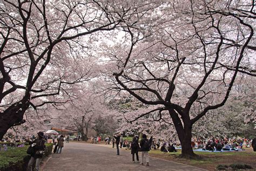
[[44,133],[43,132],[38,132],[37,133],[37,138],[30,142],[33,147],[33,152],[31,154],[29,163],[28,163],[28,170],[32,171],[33,170],[33,163],[36,161],[36,170],[39,170],[40,162],[43,157],[43,152],[45,149],[44,145]]

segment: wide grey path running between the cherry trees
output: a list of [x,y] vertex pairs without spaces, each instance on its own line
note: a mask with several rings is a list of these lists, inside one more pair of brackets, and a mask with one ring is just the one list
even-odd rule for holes
[[41,167],[41,170],[190,170],[203,171],[205,169],[184,165],[177,162],[150,157],[150,166],[132,163],[130,151],[120,150],[116,155],[116,148],[110,145],[93,145],[90,143],[64,143],[62,154],[52,154]]

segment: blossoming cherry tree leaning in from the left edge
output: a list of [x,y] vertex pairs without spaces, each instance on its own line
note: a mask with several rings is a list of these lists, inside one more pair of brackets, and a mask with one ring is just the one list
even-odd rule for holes
[[93,45],[104,38],[96,33],[136,22],[147,8],[151,3],[1,1],[0,139],[25,122],[28,108],[72,100],[73,86],[93,77]]

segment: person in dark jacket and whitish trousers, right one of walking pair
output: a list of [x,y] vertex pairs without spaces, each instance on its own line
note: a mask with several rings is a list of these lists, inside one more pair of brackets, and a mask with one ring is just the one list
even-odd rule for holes
[[149,151],[150,151],[150,141],[147,139],[147,135],[143,134],[142,135],[142,140],[140,140],[140,149],[142,151],[142,156],[140,159],[140,165],[143,165],[143,159],[144,156],[146,158],[146,166],[149,166]]

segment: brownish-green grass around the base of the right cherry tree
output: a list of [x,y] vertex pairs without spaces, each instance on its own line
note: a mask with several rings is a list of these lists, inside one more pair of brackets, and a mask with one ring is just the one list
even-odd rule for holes
[[159,150],[151,150],[150,156],[178,163],[184,163],[186,165],[196,166],[207,170],[214,170],[219,164],[231,165],[233,163],[246,163],[251,165],[256,170],[256,152],[253,152],[252,148],[246,148],[241,152],[194,152],[202,157],[202,159],[181,159],[178,155],[181,154],[181,150],[178,149],[176,153],[163,153]]

